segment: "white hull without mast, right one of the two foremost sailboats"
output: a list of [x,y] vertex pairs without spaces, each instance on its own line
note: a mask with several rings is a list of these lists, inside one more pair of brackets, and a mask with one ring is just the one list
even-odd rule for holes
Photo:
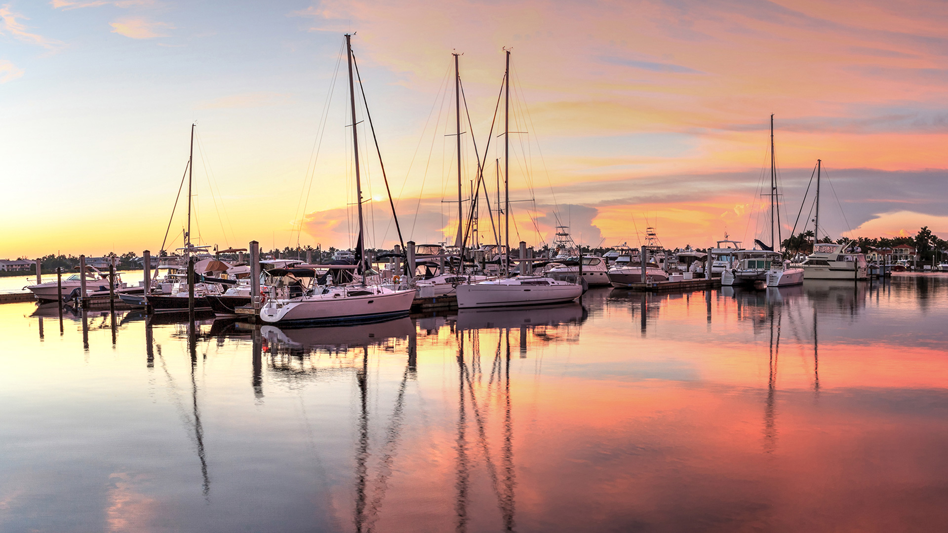
[[546,276],[516,276],[479,284],[458,285],[458,308],[506,307],[573,302],[582,296],[582,285]]

